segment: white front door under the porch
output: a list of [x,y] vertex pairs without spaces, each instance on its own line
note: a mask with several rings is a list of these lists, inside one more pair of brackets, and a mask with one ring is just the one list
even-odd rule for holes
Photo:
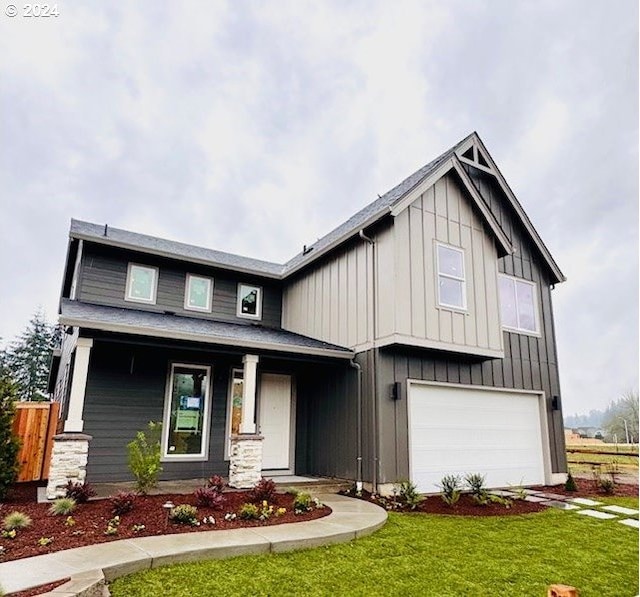
[[260,378],[259,425],[262,442],[262,468],[292,467],[291,376],[263,373]]

